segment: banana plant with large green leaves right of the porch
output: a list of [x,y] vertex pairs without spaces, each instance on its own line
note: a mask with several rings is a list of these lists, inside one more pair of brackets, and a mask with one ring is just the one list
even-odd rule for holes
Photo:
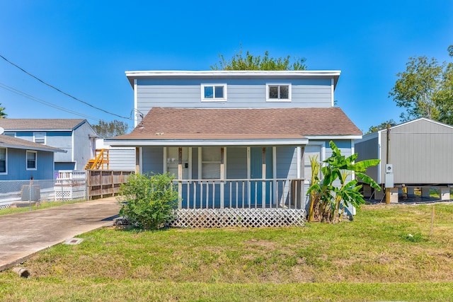
[[[365,204],[365,199],[360,192],[362,185],[358,185],[357,178],[362,182],[381,190],[381,187],[365,173],[367,168],[377,165],[379,159],[359,161],[357,153],[345,157],[341,155],[340,149],[333,141],[330,141],[332,156],[327,158],[321,168],[322,179],[318,173],[313,173],[311,186],[306,194],[311,194],[309,221],[323,221],[336,223],[343,216],[345,207],[352,205],[360,207]],[[316,164],[311,163],[312,168]],[[355,173],[356,179],[348,180],[348,177]],[[315,215],[316,214],[316,215]]]

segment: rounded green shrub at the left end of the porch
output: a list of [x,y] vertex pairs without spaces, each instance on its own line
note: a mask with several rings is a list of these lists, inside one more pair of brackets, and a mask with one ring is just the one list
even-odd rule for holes
[[120,215],[145,230],[163,228],[174,218],[173,208],[178,203],[173,179],[168,173],[131,175],[120,187]]

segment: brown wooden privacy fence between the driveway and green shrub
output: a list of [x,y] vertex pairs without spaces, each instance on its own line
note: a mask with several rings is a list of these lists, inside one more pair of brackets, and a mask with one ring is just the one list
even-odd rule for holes
[[127,182],[132,171],[86,170],[88,200],[109,197],[120,190],[120,185]]

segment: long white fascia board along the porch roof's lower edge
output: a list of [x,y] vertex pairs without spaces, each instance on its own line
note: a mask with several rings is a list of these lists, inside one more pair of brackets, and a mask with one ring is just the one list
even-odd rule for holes
[[309,139],[105,140],[105,144],[110,146],[301,146],[308,142]]

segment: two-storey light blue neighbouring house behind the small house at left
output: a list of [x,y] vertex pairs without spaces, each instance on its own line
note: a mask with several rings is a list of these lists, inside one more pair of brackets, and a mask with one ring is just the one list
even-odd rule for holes
[[83,170],[95,154],[97,134],[86,120],[8,118],[0,127],[4,135],[66,151],[55,153],[55,170]]

